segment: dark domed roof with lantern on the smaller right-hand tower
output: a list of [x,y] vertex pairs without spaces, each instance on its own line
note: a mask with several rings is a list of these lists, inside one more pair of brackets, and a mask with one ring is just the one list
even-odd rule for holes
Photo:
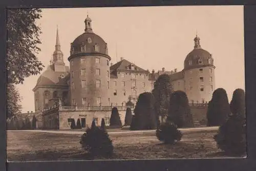
[[200,38],[198,35],[194,38],[195,46],[185,58],[184,69],[191,69],[203,66],[214,66],[214,59],[211,54],[201,48]]

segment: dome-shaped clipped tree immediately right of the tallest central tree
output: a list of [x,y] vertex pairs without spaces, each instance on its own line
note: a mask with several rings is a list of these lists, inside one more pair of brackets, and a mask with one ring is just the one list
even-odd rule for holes
[[188,105],[187,95],[184,91],[174,91],[170,97],[168,119],[178,128],[194,127],[193,116]]

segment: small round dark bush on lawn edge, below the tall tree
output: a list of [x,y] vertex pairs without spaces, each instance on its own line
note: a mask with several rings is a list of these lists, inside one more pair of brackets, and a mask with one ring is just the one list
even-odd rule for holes
[[169,121],[160,124],[156,131],[156,136],[160,141],[168,144],[174,144],[181,140],[182,133],[177,129],[177,126]]

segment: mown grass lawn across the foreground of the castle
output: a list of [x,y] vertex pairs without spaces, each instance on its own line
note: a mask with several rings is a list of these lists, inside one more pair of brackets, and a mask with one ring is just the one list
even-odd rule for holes
[[[162,144],[155,132],[112,134],[111,159],[212,158],[224,156],[212,137],[216,131],[187,132],[175,145]],[[87,160],[81,135],[8,131],[8,161]],[[103,158],[98,158],[103,159]]]

